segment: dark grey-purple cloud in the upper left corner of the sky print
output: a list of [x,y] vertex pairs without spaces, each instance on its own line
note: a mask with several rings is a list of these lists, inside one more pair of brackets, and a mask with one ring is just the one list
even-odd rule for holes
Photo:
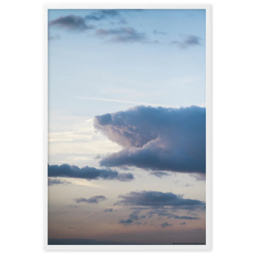
[[61,16],[55,20],[49,21],[48,26],[77,31],[84,31],[93,28],[92,25],[85,24],[84,18],[76,15]]

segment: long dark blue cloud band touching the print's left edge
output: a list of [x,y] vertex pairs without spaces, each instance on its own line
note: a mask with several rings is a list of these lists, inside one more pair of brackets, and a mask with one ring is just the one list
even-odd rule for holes
[[76,165],[69,164],[48,164],[48,177],[69,177],[87,180],[103,179],[119,181],[130,181],[134,179],[132,173],[118,173],[117,171],[110,169],[96,169],[89,166],[79,168]]

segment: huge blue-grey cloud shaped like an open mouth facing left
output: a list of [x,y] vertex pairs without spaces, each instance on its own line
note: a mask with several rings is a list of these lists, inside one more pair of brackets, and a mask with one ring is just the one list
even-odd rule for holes
[[95,116],[94,127],[124,149],[101,166],[205,173],[205,108],[136,106]]

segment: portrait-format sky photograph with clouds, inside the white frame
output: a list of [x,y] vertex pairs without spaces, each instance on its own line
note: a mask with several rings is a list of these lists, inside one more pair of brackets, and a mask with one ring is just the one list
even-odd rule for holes
[[205,244],[205,10],[48,10],[48,244]]

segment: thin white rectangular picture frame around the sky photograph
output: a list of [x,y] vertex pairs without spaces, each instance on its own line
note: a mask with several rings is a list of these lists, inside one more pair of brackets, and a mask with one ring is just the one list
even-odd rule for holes
[[[206,10],[206,244],[205,245],[48,245],[48,9],[205,9]],[[44,250],[210,250],[211,249],[211,5],[209,4],[44,4],[43,6],[43,247]]]

